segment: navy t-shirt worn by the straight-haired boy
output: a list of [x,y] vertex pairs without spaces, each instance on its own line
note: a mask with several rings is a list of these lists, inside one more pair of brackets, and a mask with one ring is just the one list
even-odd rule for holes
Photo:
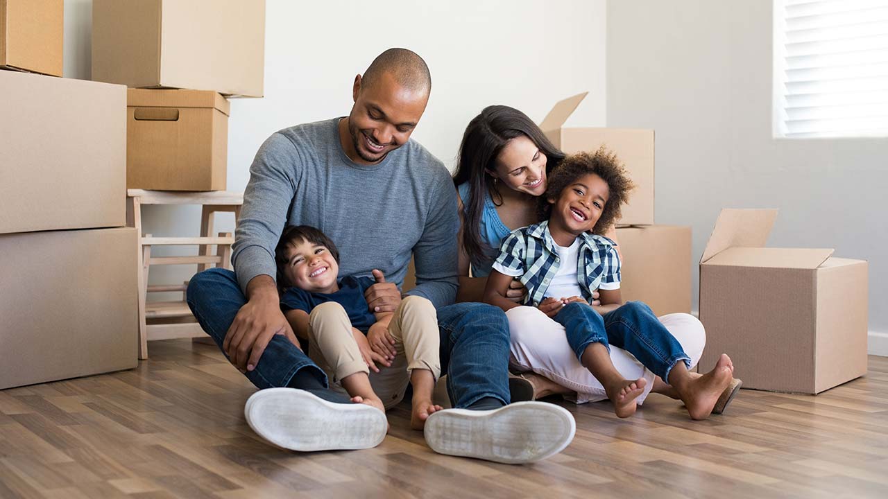
[[336,302],[345,308],[348,320],[352,321],[352,327],[359,329],[365,335],[377,318],[369,311],[364,291],[376,281],[370,277],[354,277],[346,275],[339,281],[339,290],[335,293],[313,293],[305,289],[289,288],[281,297],[281,309],[303,310],[312,313],[314,307],[327,302]]

